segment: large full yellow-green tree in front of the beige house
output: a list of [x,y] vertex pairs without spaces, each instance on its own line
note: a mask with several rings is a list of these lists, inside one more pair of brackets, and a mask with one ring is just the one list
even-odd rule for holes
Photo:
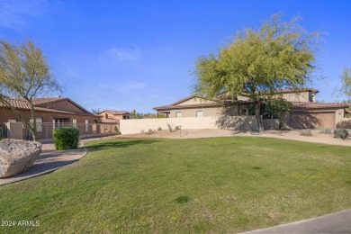
[[261,105],[279,89],[301,89],[311,81],[318,33],[275,14],[259,29],[238,31],[217,54],[195,61],[193,91],[206,98],[247,96],[255,103],[258,131]]

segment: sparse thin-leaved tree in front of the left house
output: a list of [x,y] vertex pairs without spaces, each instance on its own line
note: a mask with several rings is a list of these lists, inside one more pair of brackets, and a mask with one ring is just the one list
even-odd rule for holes
[[[37,140],[36,118],[33,98],[61,91],[62,87],[49,73],[49,66],[40,48],[30,40],[18,46],[6,40],[0,40],[0,103],[10,108],[31,131],[33,140]],[[31,109],[31,120],[26,120],[10,98],[22,98]]]

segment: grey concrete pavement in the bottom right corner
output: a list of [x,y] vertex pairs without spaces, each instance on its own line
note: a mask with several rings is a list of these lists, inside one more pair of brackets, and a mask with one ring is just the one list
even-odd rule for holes
[[245,233],[351,233],[351,209]]

